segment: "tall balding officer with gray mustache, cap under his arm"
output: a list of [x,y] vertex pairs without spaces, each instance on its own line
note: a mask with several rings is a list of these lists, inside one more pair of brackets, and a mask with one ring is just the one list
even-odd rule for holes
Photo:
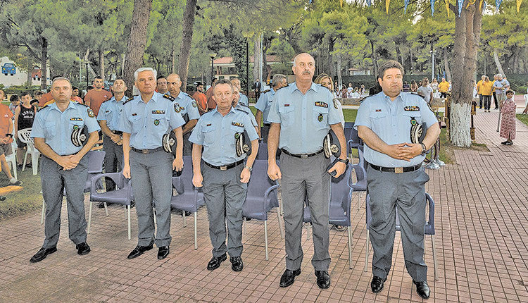
[[[268,175],[272,180],[282,178],[282,203],[284,231],[286,234],[286,271],[280,279],[280,286],[294,283],[301,273],[303,249],[301,228],[305,197],[310,207],[313,223],[314,254],[317,284],[321,288],[330,286],[328,268],[328,207],[330,198],[330,175],[343,174],[346,169],[346,152],[339,161],[328,168],[322,149],[323,138],[332,128],[341,147],[345,146],[343,126],[339,109],[334,106],[332,93],[312,82],[315,61],[309,54],[298,54],[292,68],[295,82],[275,93],[268,121]],[[277,147],[282,151],[281,168],[275,161]]]

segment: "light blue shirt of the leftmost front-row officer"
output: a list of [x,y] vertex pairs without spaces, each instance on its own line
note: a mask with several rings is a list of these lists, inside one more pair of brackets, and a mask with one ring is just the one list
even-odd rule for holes
[[73,145],[72,132],[74,129],[84,128],[84,125],[87,126],[88,132],[101,129],[94,111],[88,106],[70,101],[65,111],[61,111],[56,103],[52,103],[37,111],[31,137],[44,138],[44,142],[60,156],[76,154],[82,146]]

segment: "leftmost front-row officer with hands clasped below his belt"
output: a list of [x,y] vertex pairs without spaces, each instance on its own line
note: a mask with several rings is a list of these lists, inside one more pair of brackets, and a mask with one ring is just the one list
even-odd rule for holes
[[[88,106],[70,101],[70,80],[55,78],[51,83],[53,104],[44,106],[34,118],[31,137],[42,154],[40,160],[42,195],[46,203],[44,245],[30,262],[42,261],[57,251],[61,229],[63,190],[68,203],[68,231],[75,243],[77,254],[90,252],[86,243],[86,218],[84,216],[84,184],[88,177],[88,157],[84,156],[99,140],[99,124],[94,111]],[[72,132],[86,127],[89,132],[84,147],[76,146]],[[78,143],[78,142],[77,142]]]

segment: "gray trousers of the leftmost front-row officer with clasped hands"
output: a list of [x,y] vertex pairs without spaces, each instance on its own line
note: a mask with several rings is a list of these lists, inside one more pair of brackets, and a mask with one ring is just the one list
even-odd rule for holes
[[76,245],[86,242],[86,217],[84,216],[84,184],[88,178],[88,157],[82,157],[73,169],[63,171],[55,161],[42,156],[40,160],[42,195],[46,203],[44,248],[56,247],[61,230],[63,189],[68,204],[68,232]]

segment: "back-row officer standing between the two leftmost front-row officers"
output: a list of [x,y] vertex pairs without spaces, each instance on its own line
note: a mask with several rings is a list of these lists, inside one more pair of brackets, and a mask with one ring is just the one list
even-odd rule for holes
[[[122,132],[118,130],[122,106],[127,101],[125,91],[127,85],[122,79],[113,82],[113,97],[104,101],[99,108],[97,120],[103,132],[104,167],[106,173],[115,173],[122,169]],[[106,190],[111,191],[115,184],[111,179],[106,179]],[[99,208],[104,207],[99,204]]]

